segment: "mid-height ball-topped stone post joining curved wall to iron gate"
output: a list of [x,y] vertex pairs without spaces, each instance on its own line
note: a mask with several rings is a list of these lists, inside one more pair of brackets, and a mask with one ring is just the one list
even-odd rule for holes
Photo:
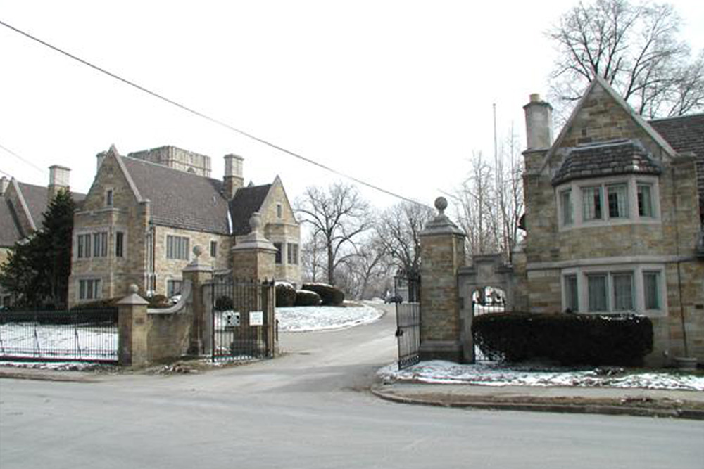
[[191,283],[190,307],[193,314],[188,353],[191,355],[202,355],[206,354],[206,351],[210,349],[212,340],[212,334],[210,333],[212,321],[206,317],[208,316],[206,314],[207,299],[203,298],[203,285],[213,279],[213,267],[201,264],[199,261],[201,254],[203,254],[203,248],[194,246],[193,253],[196,258],[183,269],[184,282]]

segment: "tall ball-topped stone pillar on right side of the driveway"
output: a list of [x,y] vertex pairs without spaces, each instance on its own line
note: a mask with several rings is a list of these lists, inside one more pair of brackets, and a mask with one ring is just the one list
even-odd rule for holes
[[466,235],[445,215],[445,198],[435,207],[437,217],[420,232],[420,359],[462,362],[457,273],[465,265]]

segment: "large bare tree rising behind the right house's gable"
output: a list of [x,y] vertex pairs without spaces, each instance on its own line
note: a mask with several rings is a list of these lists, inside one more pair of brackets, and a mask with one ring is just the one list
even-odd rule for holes
[[558,49],[551,94],[571,107],[601,75],[646,117],[704,109],[703,56],[691,60],[677,39],[680,24],[667,4],[580,2],[546,33]]

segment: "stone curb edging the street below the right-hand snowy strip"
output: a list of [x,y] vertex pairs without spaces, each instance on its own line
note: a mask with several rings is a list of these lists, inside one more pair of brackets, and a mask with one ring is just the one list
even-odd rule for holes
[[634,417],[669,417],[689,420],[704,420],[704,411],[697,409],[649,409],[634,406],[608,406],[604,404],[528,404],[517,402],[493,402],[465,397],[463,401],[444,401],[442,399],[422,399],[399,396],[384,392],[379,387],[370,388],[372,394],[386,401],[398,404],[413,404],[422,406],[451,407],[458,409],[475,408],[503,411],[553,412],[553,413],[591,413],[610,416]]

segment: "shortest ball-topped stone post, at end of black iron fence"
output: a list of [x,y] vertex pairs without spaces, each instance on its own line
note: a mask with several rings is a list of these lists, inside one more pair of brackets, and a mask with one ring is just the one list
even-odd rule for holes
[[149,361],[146,347],[149,302],[137,295],[138,291],[137,285],[130,285],[130,295],[118,302],[118,363],[122,366],[144,366]]

